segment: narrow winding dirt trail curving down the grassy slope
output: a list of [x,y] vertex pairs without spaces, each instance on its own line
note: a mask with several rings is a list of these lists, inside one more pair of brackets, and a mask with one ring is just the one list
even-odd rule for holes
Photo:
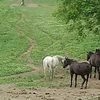
[[[25,20],[25,15],[24,14],[21,14],[21,18],[20,20]],[[16,75],[11,75],[11,76],[5,76],[5,77],[0,77],[0,78],[15,78],[15,77],[26,77],[26,76],[30,76],[30,75],[35,75],[37,73],[40,73],[42,71],[42,68],[41,67],[37,67],[35,66],[33,63],[32,63],[32,58],[30,56],[30,53],[32,52],[32,50],[34,49],[34,47],[36,46],[36,42],[34,40],[32,40],[30,37],[28,37],[24,31],[22,30],[22,28],[20,27],[19,25],[19,21],[18,20],[16,22],[16,27],[17,27],[17,30],[19,31],[19,33],[24,37],[26,38],[29,43],[30,43],[30,46],[29,48],[23,52],[18,58],[17,60],[21,61],[23,59],[23,57],[27,57],[28,58],[28,61],[26,61],[26,64],[27,66],[30,66],[31,68],[33,68],[34,70],[31,71],[31,72],[24,72],[24,73],[20,73],[20,74],[16,74]]]

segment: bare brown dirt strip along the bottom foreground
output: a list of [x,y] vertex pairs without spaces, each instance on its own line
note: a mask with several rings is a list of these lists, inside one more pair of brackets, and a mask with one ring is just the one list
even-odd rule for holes
[[100,96],[100,89],[19,88],[15,84],[0,85],[0,100],[90,100]]

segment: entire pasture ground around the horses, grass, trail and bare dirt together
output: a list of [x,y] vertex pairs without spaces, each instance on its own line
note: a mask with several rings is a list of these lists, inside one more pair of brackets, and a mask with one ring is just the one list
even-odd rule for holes
[[[44,81],[42,60],[47,55],[86,60],[100,46],[100,37],[78,36],[52,16],[56,0],[0,0],[0,100],[88,100],[100,95],[98,79],[88,89],[69,88],[69,70],[60,65],[53,81]],[[6,95],[6,96],[5,96]],[[95,99],[94,99],[95,100]]]

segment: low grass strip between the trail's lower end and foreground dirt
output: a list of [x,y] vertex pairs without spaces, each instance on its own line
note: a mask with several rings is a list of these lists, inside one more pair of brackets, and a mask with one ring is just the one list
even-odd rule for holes
[[44,80],[43,73],[36,74],[28,77],[17,77],[17,78],[2,78],[0,79],[0,84],[15,83],[20,87],[49,87],[49,88],[61,88],[69,87],[69,83],[66,83],[64,79],[57,78],[53,81]]

